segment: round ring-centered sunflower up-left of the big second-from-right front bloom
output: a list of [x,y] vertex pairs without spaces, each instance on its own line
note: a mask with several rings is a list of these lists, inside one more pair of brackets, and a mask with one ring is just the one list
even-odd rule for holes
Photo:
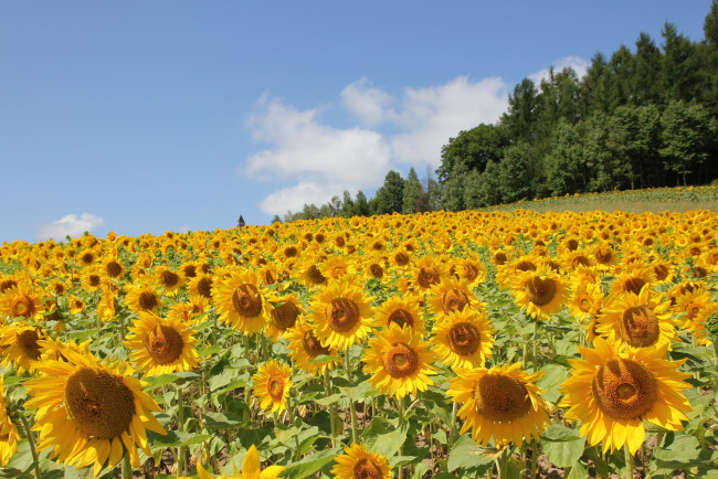
[[371,374],[369,382],[398,398],[410,393],[415,396],[416,391],[426,391],[433,384],[429,379],[436,374],[433,360],[427,342],[394,322],[369,340],[362,355],[363,371]]

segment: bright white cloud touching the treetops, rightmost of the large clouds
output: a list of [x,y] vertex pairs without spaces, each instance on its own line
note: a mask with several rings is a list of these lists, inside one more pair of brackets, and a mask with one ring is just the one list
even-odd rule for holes
[[506,84],[490,77],[471,82],[460,76],[429,88],[406,88],[392,138],[393,158],[412,166],[439,167],[441,148],[461,130],[498,120],[508,105]]

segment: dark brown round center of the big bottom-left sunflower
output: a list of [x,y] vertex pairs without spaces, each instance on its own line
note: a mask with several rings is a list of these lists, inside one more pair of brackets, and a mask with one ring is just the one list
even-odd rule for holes
[[135,415],[135,396],[123,377],[83,368],[67,379],[67,414],[83,433],[110,439],[127,430]]

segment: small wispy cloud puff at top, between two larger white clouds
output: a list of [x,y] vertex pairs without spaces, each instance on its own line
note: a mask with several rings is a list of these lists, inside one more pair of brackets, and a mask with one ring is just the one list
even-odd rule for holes
[[397,113],[391,108],[395,98],[382,89],[371,87],[367,77],[350,83],[341,91],[341,104],[365,126],[377,126],[395,120]]

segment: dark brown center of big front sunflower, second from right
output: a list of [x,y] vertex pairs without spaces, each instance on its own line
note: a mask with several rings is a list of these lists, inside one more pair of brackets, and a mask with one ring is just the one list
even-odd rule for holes
[[510,423],[528,413],[531,400],[519,380],[499,374],[486,374],[474,388],[476,411],[499,423]]

